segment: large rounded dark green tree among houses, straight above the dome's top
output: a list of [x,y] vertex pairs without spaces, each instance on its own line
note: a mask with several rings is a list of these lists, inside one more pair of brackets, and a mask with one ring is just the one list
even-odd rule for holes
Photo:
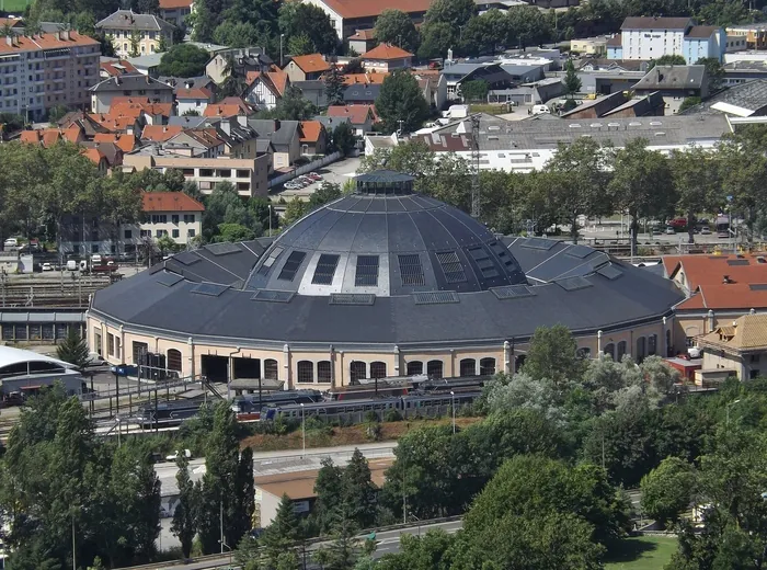
[[384,79],[376,111],[387,132],[412,133],[428,116],[428,103],[417,80],[405,70],[396,70]]

